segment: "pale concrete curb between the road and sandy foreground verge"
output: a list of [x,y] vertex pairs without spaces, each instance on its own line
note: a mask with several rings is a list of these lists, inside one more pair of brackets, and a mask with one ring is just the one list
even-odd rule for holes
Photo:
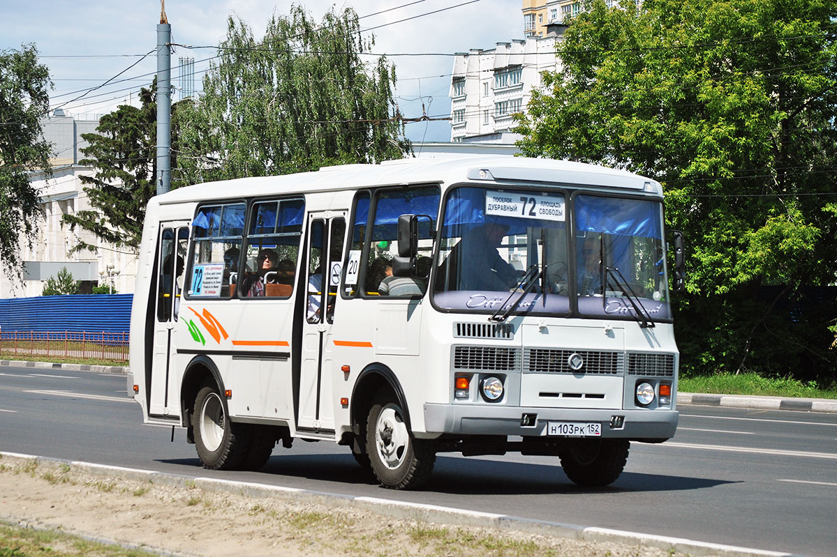
[[[454,524],[459,526],[477,526],[507,531],[541,534],[557,538],[575,539],[587,542],[615,542],[621,544],[639,544],[655,547],[664,551],[675,549],[693,557],[712,555],[723,557],[801,557],[779,551],[737,547],[734,545],[712,544],[693,539],[674,538],[656,534],[643,534],[627,530],[597,528],[578,524],[545,522],[536,519],[522,519],[506,514],[483,513],[462,508],[442,507],[423,503],[408,503],[386,498],[356,497],[341,493],[316,492],[300,488],[285,488],[263,483],[238,482],[219,478],[193,478],[186,475],[161,473],[138,468],[123,468],[95,464],[93,462],[69,461],[59,458],[38,457],[17,452],[0,452],[0,457],[22,462],[36,462],[46,468],[69,466],[102,477],[116,477],[140,482],[152,482],[158,485],[170,485],[178,488],[203,488],[208,491],[232,493],[249,497],[285,497],[298,500],[316,501],[331,507],[355,507],[393,519],[422,520],[436,524]],[[116,543],[116,542],[113,542]],[[147,548],[146,548],[147,549]]]

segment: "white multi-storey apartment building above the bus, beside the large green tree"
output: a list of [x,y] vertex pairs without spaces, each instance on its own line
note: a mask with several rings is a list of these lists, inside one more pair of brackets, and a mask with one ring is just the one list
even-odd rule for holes
[[547,37],[497,43],[494,49],[457,53],[450,84],[450,141],[514,143],[512,118],[526,110],[541,72],[556,71],[562,26]]

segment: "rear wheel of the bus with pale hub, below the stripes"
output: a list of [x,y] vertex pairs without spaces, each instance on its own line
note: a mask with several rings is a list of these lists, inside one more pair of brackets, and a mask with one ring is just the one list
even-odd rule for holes
[[206,383],[198,391],[193,413],[195,448],[204,468],[234,470],[244,462],[249,429],[229,421],[218,388]]

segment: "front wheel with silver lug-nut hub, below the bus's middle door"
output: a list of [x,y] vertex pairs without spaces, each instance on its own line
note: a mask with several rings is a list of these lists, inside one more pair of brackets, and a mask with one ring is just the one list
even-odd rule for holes
[[400,403],[388,393],[376,395],[369,409],[367,457],[384,488],[418,488],[428,480],[436,462],[433,442],[413,437],[403,416]]

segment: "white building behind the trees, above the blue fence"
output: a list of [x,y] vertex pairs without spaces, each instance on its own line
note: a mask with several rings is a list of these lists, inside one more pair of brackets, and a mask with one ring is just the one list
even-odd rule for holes
[[[30,181],[39,192],[44,219],[31,248],[27,238],[20,238],[22,280],[10,279],[3,266],[0,298],[39,296],[47,279],[56,277],[64,267],[80,281],[82,293],[89,293],[97,284],[115,286],[119,294],[133,293],[136,253],[103,244],[93,233],[78,227],[71,232],[61,224],[63,215],[90,209],[80,176],[91,176],[93,169],[79,165],[84,158],[80,150],[87,146],[81,135],[95,132],[98,125],[99,120],[76,120],[61,111],[41,121],[44,138],[53,144],[53,176],[48,180],[43,173],[36,173]],[[79,239],[97,246],[97,253],[69,253]]]

